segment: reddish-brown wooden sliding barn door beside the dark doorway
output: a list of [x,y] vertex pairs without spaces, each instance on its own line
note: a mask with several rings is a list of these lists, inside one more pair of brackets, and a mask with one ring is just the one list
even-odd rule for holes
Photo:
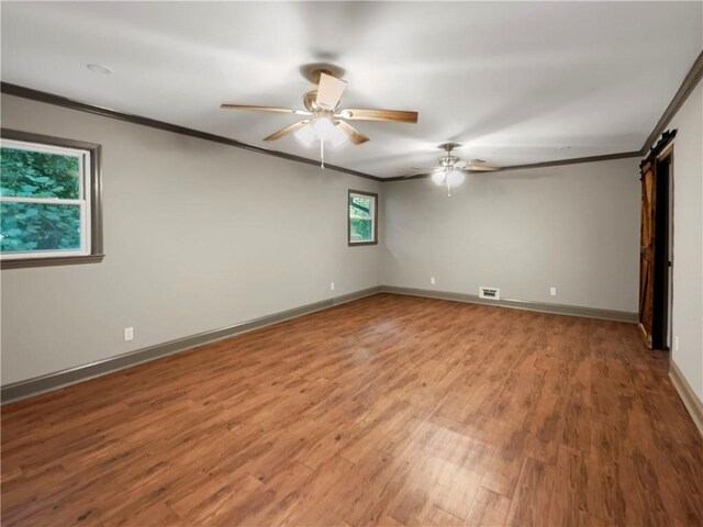
[[641,223],[639,233],[639,324],[651,347],[655,285],[656,161],[641,165]]

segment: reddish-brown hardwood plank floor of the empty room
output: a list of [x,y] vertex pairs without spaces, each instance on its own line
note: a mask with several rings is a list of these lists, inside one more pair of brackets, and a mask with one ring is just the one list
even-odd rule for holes
[[379,294],[2,408],[2,524],[703,525],[635,325]]

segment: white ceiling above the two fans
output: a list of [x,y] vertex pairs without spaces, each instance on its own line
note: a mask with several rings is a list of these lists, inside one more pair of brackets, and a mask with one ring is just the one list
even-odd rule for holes
[[[702,2],[2,2],[2,80],[316,158],[294,116],[299,68],[346,70],[343,106],[416,110],[356,122],[328,162],[380,177],[464,158],[511,166],[637,150],[703,47]],[[97,63],[114,70],[96,75]],[[569,147],[569,148],[563,148]]]

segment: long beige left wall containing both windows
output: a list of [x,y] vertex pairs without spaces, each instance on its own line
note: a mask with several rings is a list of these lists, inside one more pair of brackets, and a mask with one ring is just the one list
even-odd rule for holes
[[107,254],[2,271],[2,384],[380,283],[346,238],[375,181],[10,96],[2,126],[103,145]]

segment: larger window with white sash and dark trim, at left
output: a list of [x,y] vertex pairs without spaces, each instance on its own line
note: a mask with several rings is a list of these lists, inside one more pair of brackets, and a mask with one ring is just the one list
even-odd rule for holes
[[3,268],[99,261],[100,146],[3,130]]

